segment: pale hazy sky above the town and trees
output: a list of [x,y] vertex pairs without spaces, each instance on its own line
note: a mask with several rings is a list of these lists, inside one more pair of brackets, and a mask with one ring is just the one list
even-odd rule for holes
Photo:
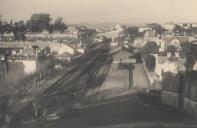
[[197,0],[0,0],[3,19],[27,20],[33,13],[67,23],[197,22]]

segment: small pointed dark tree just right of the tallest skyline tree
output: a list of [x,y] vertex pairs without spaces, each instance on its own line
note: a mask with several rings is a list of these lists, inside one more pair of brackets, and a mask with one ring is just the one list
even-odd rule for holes
[[57,17],[57,19],[54,22],[54,30],[55,31],[60,31],[60,32],[64,32],[65,29],[67,29],[66,24],[63,22],[63,18],[62,17]]

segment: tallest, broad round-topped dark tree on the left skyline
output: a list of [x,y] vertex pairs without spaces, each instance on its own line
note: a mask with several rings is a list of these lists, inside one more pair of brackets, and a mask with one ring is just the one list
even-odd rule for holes
[[33,14],[27,21],[27,26],[32,32],[42,32],[43,30],[49,30],[50,21],[50,15],[47,13]]

